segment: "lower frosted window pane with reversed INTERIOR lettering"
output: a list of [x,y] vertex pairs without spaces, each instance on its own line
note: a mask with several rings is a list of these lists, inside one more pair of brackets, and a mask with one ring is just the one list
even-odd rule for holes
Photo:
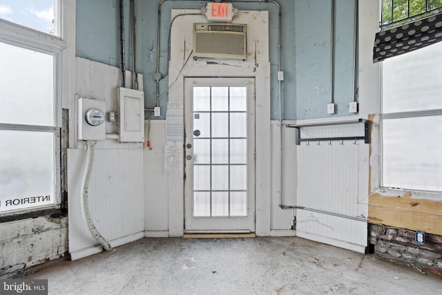
[[54,133],[0,131],[0,212],[55,204]]

